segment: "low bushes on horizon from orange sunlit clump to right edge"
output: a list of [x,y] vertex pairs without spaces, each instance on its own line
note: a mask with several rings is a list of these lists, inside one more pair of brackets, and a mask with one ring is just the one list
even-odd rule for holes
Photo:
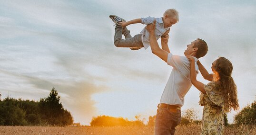
[[[156,115],[149,116],[147,124],[144,124],[143,120],[140,120],[138,116],[135,118],[136,120],[129,121],[127,118],[123,117],[110,117],[103,115],[93,117],[90,122],[90,126],[154,126]],[[224,122],[225,126],[229,126],[226,113],[224,113]],[[201,120],[198,120],[197,112],[193,108],[183,111],[180,122],[180,125],[191,124],[201,124]],[[233,125],[256,125],[256,100],[234,116],[234,124],[231,126]]]

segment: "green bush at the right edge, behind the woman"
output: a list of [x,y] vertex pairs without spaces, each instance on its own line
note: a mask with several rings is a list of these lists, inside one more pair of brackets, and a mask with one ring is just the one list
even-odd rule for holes
[[256,100],[235,115],[235,124],[256,125]]

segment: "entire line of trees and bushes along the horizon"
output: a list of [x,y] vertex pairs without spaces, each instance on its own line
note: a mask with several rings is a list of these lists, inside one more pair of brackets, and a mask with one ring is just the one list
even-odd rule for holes
[[[0,94],[1,97],[1,94]],[[149,116],[148,123],[144,124],[139,116],[129,121],[123,117],[98,116],[93,117],[90,126],[154,126],[156,116]],[[228,126],[226,113],[225,126]],[[9,96],[0,99],[0,126],[68,126],[73,124],[73,117],[64,109],[57,90],[51,89],[50,94],[40,101],[13,99]],[[197,112],[187,109],[182,113],[180,125],[201,124],[197,119]],[[234,116],[235,125],[256,125],[256,100],[242,108]]]

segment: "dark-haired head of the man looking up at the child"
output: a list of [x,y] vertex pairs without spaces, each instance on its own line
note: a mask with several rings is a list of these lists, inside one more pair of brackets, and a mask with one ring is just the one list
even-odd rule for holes
[[207,54],[208,46],[207,43],[197,38],[197,40],[191,42],[190,45],[187,45],[187,49],[185,50],[184,54],[185,56],[194,56],[198,58],[201,58]]

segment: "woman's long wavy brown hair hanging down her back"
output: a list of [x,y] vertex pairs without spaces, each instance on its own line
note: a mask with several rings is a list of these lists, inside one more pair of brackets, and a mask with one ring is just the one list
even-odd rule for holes
[[238,110],[236,83],[231,77],[232,63],[224,57],[219,57],[213,68],[216,71],[214,81],[217,82],[218,89],[224,90],[224,107],[229,108],[229,110],[231,108]]

